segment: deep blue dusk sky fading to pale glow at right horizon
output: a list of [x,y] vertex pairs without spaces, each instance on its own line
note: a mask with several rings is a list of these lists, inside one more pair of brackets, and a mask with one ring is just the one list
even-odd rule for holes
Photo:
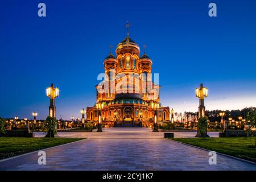
[[[38,3],[46,3],[46,17]],[[208,5],[217,5],[209,17]],[[0,2],[0,117],[48,115],[46,88],[60,89],[56,117],[81,117],[96,102],[103,61],[126,36],[151,57],[160,101],[197,111],[195,88],[209,89],[207,110],[256,106],[256,1]]]

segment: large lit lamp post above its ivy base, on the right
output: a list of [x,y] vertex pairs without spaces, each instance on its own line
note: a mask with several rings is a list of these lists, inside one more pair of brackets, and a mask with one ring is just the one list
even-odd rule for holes
[[204,117],[205,116],[205,106],[204,106],[204,97],[208,97],[208,89],[203,86],[203,84],[200,85],[200,88],[196,88],[196,97],[199,98],[199,114],[198,117]]

